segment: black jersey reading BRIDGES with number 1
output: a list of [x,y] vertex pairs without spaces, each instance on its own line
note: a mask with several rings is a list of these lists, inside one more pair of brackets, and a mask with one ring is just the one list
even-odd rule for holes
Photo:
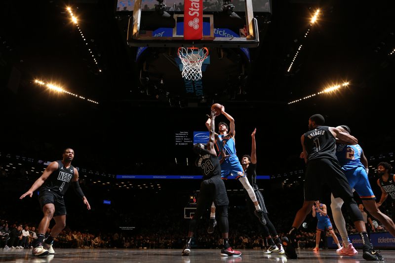
[[314,130],[306,132],[304,136],[308,161],[328,158],[338,162],[336,158],[336,139],[329,131],[328,126],[317,126]]

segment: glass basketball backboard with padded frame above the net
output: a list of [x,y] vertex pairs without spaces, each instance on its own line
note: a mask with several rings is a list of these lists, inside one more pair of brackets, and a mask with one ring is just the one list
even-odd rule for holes
[[[256,47],[259,33],[254,8],[259,10],[258,13],[271,11],[269,0],[233,1],[237,4],[232,10],[224,7],[230,1],[204,0],[202,38],[191,41],[184,36],[184,0],[162,3],[163,0],[135,0],[131,3],[133,15],[128,24],[129,46]],[[131,6],[127,6],[127,10],[130,9]]]

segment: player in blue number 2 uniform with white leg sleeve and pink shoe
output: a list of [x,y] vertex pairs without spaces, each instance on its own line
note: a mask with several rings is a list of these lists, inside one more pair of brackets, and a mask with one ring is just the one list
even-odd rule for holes
[[[337,128],[344,133],[350,134],[350,128],[346,125],[341,125]],[[370,187],[369,179],[367,177],[368,163],[365,155],[363,154],[362,148],[358,144],[348,145],[338,141],[336,146],[336,157],[347,177],[350,187],[356,190],[356,193],[361,198],[365,209],[373,217],[379,220],[392,235],[395,236],[394,222],[388,216],[383,214],[376,204],[376,197]],[[337,250],[337,253],[340,255],[354,256],[356,251],[353,248],[353,245],[350,244],[346,231],[346,222],[341,211],[343,200],[341,198],[334,198],[333,194],[331,199],[333,220],[335,221],[343,240],[343,248]]]

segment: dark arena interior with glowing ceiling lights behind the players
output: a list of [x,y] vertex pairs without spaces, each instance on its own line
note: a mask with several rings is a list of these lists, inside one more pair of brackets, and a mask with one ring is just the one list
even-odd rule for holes
[[[156,7],[164,3],[165,14],[181,14],[182,0],[142,1],[140,36],[171,40],[140,47],[130,35],[133,0],[0,2],[1,262],[363,261],[360,237],[353,234],[360,252],[355,257],[338,256],[330,235],[320,243],[324,249],[313,252],[311,214],[298,232],[298,260],[264,254],[265,237],[248,214],[241,184],[232,179],[225,182],[229,243],[242,255],[220,255],[221,233],[218,227],[207,233],[207,211],[190,256],[181,256],[201,182],[193,145],[207,133],[214,103],[235,119],[239,159],[251,153],[256,128],[257,184],[280,237],[304,201],[300,138],[311,115],[351,128],[367,157],[376,202],[382,194],[377,166],[394,166],[394,2],[247,1],[259,33],[255,47],[230,40],[241,38],[248,17],[244,0],[203,0],[203,14],[214,17],[207,27],[227,40],[208,44],[202,78],[195,81],[182,77],[176,45],[184,40],[174,38]],[[223,8],[226,3],[235,5],[234,12]],[[224,115],[215,121],[229,123]],[[33,239],[15,229],[38,228],[38,191],[19,197],[68,147],[91,210],[69,189],[56,254],[33,257]],[[322,195],[333,224],[330,190]],[[395,218],[391,206],[389,196],[380,210]],[[395,261],[395,237],[371,219],[371,242],[385,261]]]

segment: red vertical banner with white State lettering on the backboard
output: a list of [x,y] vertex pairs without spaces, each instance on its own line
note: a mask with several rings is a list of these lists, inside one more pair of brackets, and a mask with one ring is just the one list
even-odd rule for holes
[[184,39],[203,38],[203,0],[184,1]]

